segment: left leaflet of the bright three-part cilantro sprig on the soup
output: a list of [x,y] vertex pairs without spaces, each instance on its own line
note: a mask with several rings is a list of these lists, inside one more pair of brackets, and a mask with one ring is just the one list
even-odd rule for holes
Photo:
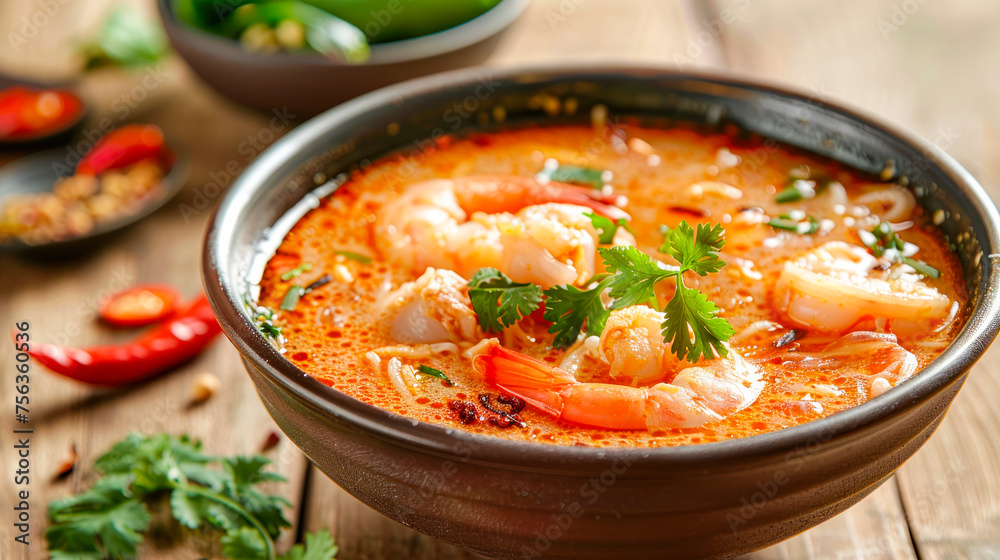
[[611,309],[622,309],[655,301],[656,284],[680,274],[680,269],[664,264],[630,245],[601,247],[597,252],[611,276],[608,294]]

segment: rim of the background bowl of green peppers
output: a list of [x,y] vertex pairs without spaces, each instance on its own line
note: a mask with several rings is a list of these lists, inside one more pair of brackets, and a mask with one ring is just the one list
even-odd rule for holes
[[218,48],[228,51],[232,56],[237,56],[237,54],[253,57],[266,56],[268,62],[278,64],[316,64],[332,67],[372,67],[397,64],[461,50],[496,35],[514,23],[531,3],[531,0],[500,0],[492,8],[478,16],[447,29],[410,39],[371,45],[371,58],[364,64],[351,65],[331,60],[320,54],[279,51],[261,55],[245,51],[240,48],[237,41],[193,28],[177,19],[177,15],[171,9],[173,1],[158,0],[157,2],[160,8],[160,17],[164,22],[169,19],[169,26],[175,26],[181,33],[197,37],[199,40],[209,41]]

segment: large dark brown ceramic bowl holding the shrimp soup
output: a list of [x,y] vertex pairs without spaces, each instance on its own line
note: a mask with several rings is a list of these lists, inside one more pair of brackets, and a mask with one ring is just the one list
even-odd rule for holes
[[[964,267],[967,323],[912,379],[860,406],[774,433],[656,449],[522,443],[412,421],[322,385],[257,333],[242,295],[315,203],[317,174],[334,177],[393,148],[419,157],[426,138],[474,128],[476,113],[494,106],[504,106],[511,121],[573,122],[529,109],[539,92],[575,96],[576,122],[604,103],[611,115],[735,124],[869,173],[892,160],[927,210],[950,216],[941,227]],[[457,119],[451,108],[468,99],[477,100],[475,109]],[[390,123],[403,132],[389,136]],[[204,282],[281,429],[323,472],[385,515],[487,556],[733,556],[850,507],[930,437],[997,334],[997,225],[982,187],[929,142],[784,87],[624,65],[470,69],[368,94],[262,154],[216,210]]]

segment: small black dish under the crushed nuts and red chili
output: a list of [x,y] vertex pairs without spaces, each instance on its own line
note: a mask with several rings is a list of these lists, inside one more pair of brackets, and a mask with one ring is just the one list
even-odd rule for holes
[[[65,150],[56,149],[23,157],[0,168],[0,209],[9,196],[51,191],[57,179],[70,174],[66,171],[69,168],[65,159]],[[26,243],[19,238],[0,241],[0,253],[14,253],[42,260],[81,256],[111,238],[122,228],[138,222],[161,208],[184,188],[189,171],[187,160],[178,156],[163,181],[138,200],[131,212],[108,222],[95,224],[92,230],[77,237],[37,245]]]

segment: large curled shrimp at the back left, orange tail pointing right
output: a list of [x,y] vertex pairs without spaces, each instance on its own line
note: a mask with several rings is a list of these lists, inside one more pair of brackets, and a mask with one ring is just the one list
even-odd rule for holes
[[[584,214],[628,215],[618,197],[530,177],[459,177],[414,185],[385,205],[377,239],[414,272],[426,267],[469,277],[493,267],[542,287],[593,276],[597,232]],[[622,231],[622,230],[620,230]]]

